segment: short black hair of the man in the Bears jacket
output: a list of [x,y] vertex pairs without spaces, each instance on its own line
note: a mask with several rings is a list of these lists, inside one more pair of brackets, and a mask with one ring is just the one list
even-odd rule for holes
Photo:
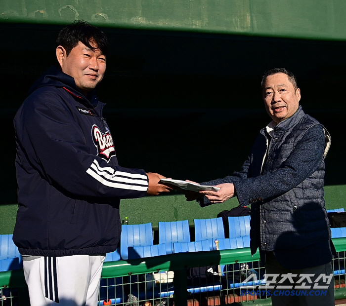
[[[108,52],[107,36],[97,27],[89,24],[87,21],[76,20],[63,28],[56,38],[57,45],[65,48],[67,56],[71,50],[78,45],[78,42],[84,43],[91,50],[100,49],[102,54]],[[96,47],[91,44],[96,44]]]

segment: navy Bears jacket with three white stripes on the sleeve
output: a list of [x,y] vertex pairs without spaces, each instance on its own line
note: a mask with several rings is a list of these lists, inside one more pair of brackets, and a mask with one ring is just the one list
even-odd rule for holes
[[13,240],[23,255],[113,252],[119,203],[145,195],[144,170],[118,165],[104,104],[51,67],[15,119],[18,212]]

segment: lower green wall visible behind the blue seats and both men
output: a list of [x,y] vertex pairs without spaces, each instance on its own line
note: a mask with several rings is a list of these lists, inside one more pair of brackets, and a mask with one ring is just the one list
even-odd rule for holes
[[[346,185],[326,186],[324,190],[327,209],[346,209]],[[159,221],[189,220],[192,226],[193,219],[216,218],[219,212],[238,205],[236,198],[201,208],[195,201],[186,202],[182,194],[146,196],[122,200],[120,216],[122,220],[128,217],[130,224],[151,222],[154,229],[157,229]],[[13,232],[16,211],[16,204],[0,205],[0,234]]]

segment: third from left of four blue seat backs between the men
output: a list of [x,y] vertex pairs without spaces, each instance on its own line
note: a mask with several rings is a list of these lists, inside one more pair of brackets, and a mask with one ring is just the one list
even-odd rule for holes
[[224,238],[222,218],[195,219],[195,241],[208,239],[209,249],[213,250],[215,239]]

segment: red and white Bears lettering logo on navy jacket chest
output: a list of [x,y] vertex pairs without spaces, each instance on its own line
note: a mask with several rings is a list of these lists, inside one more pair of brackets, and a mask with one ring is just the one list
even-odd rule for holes
[[114,143],[111,133],[107,130],[102,133],[96,124],[91,127],[92,140],[97,148],[97,156],[109,162],[115,156]]

